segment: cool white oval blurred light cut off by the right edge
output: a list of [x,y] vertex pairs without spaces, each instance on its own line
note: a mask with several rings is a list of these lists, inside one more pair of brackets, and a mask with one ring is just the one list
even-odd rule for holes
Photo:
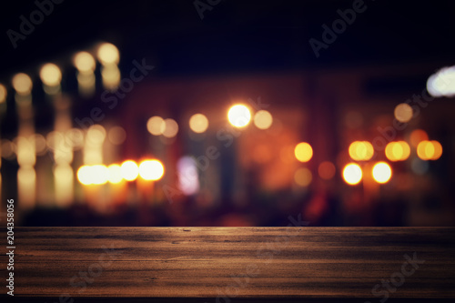
[[431,96],[455,95],[455,66],[441,68],[427,80],[427,90]]

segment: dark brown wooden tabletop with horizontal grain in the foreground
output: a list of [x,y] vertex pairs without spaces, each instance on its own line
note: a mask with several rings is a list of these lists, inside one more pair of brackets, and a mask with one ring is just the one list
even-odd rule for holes
[[379,301],[415,253],[390,298],[455,298],[447,227],[21,227],[15,245],[15,296]]

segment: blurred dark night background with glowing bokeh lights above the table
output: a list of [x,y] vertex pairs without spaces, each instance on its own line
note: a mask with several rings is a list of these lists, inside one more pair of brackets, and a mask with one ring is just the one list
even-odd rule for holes
[[0,218],[455,225],[452,1],[15,1]]

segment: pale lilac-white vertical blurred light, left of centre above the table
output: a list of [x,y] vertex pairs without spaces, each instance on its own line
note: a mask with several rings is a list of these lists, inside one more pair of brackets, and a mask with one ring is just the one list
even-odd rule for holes
[[199,190],[197,165],[192,157],[181,157],[177,162],[178,187],[186,196],[194,195]]

